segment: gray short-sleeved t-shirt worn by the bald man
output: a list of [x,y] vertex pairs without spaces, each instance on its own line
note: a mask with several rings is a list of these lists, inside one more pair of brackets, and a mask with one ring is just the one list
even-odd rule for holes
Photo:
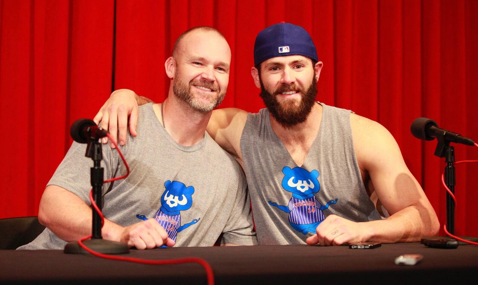
[[[182,146],[166,132],[152,104],[140,106],[137,137],[120,147],[130,175],[103,185],[103,214],[122,226],[155,218],[176,241],[175,246],[221,243],[254,245],[247,182],[237,161],[206,137]],[[93,163],[85,144],[73,143],[48,185],[71,191],[89,201]],[[126,173],[118,151],[103,146],[104,177]],[[62,249],[66,242],[48,228],[19,249]]]

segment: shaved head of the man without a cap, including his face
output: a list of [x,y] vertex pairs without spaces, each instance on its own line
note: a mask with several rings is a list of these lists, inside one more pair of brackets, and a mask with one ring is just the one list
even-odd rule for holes
[[195,27],[174,43],[173,94],[200,112],[217,107],[229,82],[231,49],[224,36],[211,27]]

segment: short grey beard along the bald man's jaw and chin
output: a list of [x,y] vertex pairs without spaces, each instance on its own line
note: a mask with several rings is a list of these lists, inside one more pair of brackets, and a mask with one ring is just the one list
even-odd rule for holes
[[[174,75],[174,78],[177,78],[177,72]],[[184,84],[183,82],[179,80],[174,80],[173,84],[173,93],[181,99],[183,102],[185,102],[187,105],[191,106],[193,109],[200,111],[200,112],[210,112],[219,104],[221,104],[222,100],[224,100],[224,97],[226,96],[226,91],[220,92],[218,91],[218,95],[216,97],[216,100],[211,101],[208,104],[205,104],[198,100],[194,95],[193,92],[191,91],[191,88],[193,87],[193,81],[191,81],[189,84]],[[203,85],[211,85],[209,83],[203,82]],[[209,88],[209,87],[208,87]],[[214,95],[211,95],[211,97]]]

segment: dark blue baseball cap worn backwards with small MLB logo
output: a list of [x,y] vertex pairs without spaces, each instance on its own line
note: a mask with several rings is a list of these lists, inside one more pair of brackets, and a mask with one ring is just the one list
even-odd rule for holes
[[257,35],[254,66],[272,57],[286,55],[304,55],[318,61],[314,42],[301,26],[281,22],[265,28]]

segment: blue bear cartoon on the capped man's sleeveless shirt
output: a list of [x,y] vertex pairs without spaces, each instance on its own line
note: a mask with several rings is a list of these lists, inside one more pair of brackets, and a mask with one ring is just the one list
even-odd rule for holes
[[320,190],[319,172],[312,170],[311,172],[294,167],[291,169],[286,166],[282,169],[284,178],[282,179],[282,188],[292,192],[292,198],[289,200],[289,206],[277,205],[277,203],[269,201],[271,206],[289,213],[289,223],[298,232],[306,234],[307,232],[315,232],[315,228],[325,219],[323,210],[329,205],[337,203],[337,199],[330,200],[325,206],[322,206],[314,194]]

